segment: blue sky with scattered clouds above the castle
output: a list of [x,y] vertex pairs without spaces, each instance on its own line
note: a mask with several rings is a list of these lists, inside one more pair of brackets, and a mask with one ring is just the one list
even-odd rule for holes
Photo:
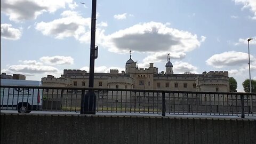
[[[91,3],[1,0],[1,73],[40,81],[63,69],[89,72]],[[255,0],[98,0],[95,73],[121,73],[130,50],[139,68],[153,62],[160,73],[170,53],[174,74],[229,71],[243,92],[248,38],[256,79]]]

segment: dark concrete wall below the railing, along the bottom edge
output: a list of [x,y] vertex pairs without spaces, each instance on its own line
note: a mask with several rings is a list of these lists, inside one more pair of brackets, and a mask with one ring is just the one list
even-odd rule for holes
[[1,113],[1,143],[256,143],[256,119]]

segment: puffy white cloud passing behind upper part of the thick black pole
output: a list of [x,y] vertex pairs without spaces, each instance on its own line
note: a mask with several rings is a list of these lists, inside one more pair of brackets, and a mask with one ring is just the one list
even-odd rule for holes
[[[63,39],[74,37],[79,42],[90,43],[91,40],[91,18],[83,18],[75,11],[64,11],[61,13],[62,18],[50,22],[36,23],[36,29],[43,35],[53,36],[54,38]],[[101,27],[107,27],[106,22],[100,22],[97,25],[96,43],[101,43],[104,30]]]

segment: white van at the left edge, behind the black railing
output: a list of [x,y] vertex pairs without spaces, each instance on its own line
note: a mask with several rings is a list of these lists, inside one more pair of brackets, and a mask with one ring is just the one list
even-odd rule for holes
[[24,89],[19,86],[41,86],[41,81],[1,79],[1,110],[14,109],[18,110],[19,113],[30,113],[31,110],[41,110],[43,90]]

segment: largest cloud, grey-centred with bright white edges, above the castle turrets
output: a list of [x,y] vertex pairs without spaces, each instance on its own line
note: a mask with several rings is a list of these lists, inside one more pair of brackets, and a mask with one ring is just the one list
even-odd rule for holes
[[188,52],[201,45],[197,35],[188,31],[169,28],[160,22],[134,25],[105,36],[103,46],[109,51],[125,53],[132,49],[137,52]]

